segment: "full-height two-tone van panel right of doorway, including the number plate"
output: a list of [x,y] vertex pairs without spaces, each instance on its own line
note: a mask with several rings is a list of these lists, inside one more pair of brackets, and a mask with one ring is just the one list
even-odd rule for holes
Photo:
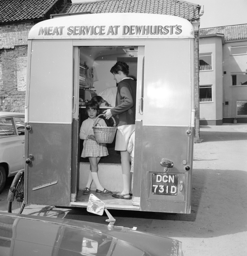
[[190,39],[146,40],[142,211],[190,213],[193,145],[191,56]]

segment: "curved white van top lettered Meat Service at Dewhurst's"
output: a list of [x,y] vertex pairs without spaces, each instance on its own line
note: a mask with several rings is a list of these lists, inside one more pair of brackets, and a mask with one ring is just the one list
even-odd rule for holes
[[73,15],[42,21],[29,39],[194,38],[191,23],[160,14],[100,13]]

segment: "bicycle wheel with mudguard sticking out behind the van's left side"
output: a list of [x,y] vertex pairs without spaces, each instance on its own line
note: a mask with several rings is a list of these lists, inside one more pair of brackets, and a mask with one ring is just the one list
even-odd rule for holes
[[10,191],[14,194],[14,200],[8,202],[8,212],[10,213],[22,213],[25,203],[24,200],[24,172],[17,173],[14,178]]

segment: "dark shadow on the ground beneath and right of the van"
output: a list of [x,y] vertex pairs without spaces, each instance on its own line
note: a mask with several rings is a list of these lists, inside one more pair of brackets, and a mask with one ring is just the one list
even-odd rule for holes
[[[247,172],[195,169],[192,176],[190,214],[109,210],[116,226],[169,237],[208,238],[247,231]],[[86,208],[57,209],[46,206],[30,215],[63,217],[106,224],[107,215]]]

